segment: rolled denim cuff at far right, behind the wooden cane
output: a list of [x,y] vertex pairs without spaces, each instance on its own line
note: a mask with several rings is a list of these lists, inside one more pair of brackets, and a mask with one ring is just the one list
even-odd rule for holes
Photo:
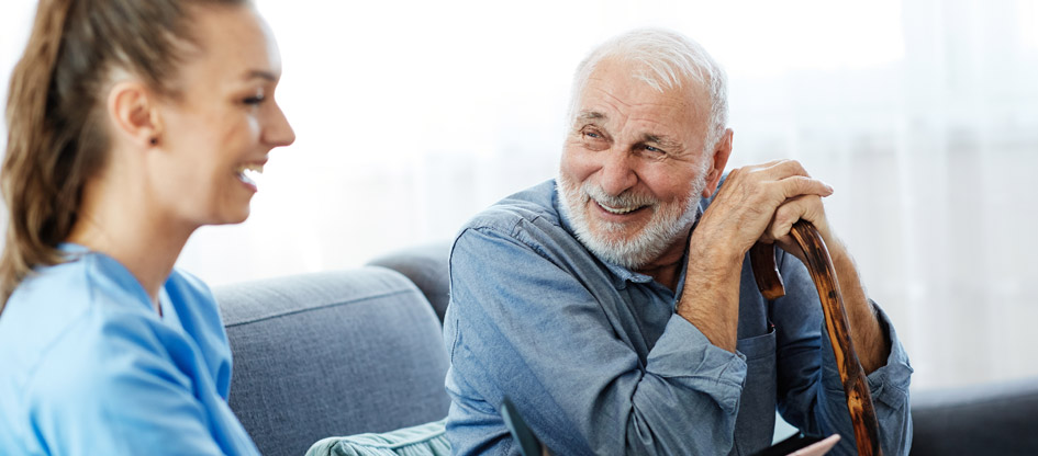
[[[879,320],[880,328],[890,337],[890,355],[886,356],[885,365],[867,376],[869,380],[869,391],[872,394],[874,400],[883,402],[894,409],[900,409],[908,401],[908,384],[911,383],[912,373],[914,371],[908,363],[908,354],[905,352],[904,346],[901,345],[897,332],[894,330],[894,326],[891,323],[886,312],[877,306],[875,303],[871,300],[870,303],[875,309],[875,317]],[[833,344],[824,327],[822,332],[822,352],[823,369],[825,371],[823,380],[825,381],[826,389],[833,392],[842,392],[844,385],[840,381],[839,371],[836,366],[836,356],[833,354]]]

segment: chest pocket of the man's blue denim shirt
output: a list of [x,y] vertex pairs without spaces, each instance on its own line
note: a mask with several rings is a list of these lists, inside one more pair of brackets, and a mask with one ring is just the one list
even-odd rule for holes
[[746,356],[746,383],[735,420],[732,454],[748,455],[770,445],[774,434],[774,328],[769,328],[764,334],[739,340],[736,350]]

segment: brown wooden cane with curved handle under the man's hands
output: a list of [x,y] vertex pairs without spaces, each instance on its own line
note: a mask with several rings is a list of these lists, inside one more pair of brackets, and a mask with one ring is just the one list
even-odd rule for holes
[[[875,418],[875,407],[872,404],[872,395],[864,369],[855,352],[855,343],[850,339],[847,309],[844,308],[844,298],[840,296],[839,283],[836,281],[836,271],[829,251],[822,241],[822,236],[810,221],[800,220],[793,225],[793,239],[804,250],[807,258],[807,271],[818,289],[822,298],[822,310],[825,315],[825,328],[829,333],[833,353],[836,355],[836,366],[844,384],[844,394],[847,397],[847,409],[850,411],[850,421],[855,426],[855,442],[858,444],[859,455],[880,456],[880,424]],[[778,299],[785,295],[782,276],[774,262],[774,246],[758,242],[750,249],[750,265],[757,278],[757,287],[767,299]]]

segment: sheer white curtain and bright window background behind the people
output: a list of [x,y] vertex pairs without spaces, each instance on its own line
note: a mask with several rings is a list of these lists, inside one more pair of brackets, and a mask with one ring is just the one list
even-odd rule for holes
[[[1038,1],[257,3],[298,140],[248,221],[189,242],[180,265],[211,284],[450,239],[555,175],[583,54],[659,25],[728,69],[732,166],[795,158],[836,189],[914,388],[1038,375]],[[0,5],[4,90],[33,9]]]

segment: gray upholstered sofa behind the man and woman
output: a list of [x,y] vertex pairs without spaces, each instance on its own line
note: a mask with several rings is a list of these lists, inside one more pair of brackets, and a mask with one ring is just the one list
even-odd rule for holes
[[[214,289],[234,355],[231,408],[263,454],[446,417],[448,249]],[[1038,378],[912,400],[913,455],[1038,455]]]

